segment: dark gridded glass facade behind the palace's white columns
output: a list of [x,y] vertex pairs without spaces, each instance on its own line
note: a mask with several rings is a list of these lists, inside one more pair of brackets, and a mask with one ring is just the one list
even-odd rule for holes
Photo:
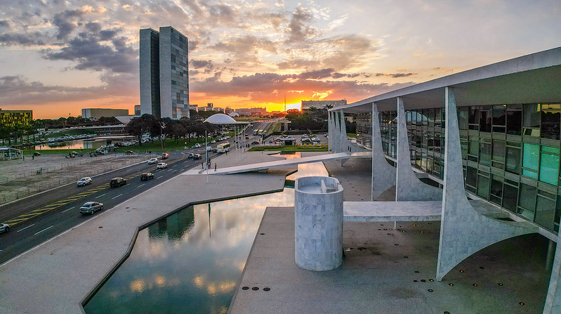
[[[411,110],[406,118],[411,165],[443,179],[444,108]],[[384,153],[395,158],[397,112],[380,112],[380,120]],[[358,121],[359,132],[369,133],[367,117]],[[556,233],[561,104],[458,107],[458,125],[466,190]]]

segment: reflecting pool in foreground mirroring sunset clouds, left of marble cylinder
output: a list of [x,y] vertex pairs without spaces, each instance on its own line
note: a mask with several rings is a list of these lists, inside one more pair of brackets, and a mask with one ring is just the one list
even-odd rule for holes
[[226,313],[267,206],[294,192],[200,204],[138,233],[86,313]]

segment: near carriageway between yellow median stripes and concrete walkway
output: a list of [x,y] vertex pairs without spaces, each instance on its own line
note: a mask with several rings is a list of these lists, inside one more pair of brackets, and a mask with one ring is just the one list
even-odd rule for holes
[[[51,237],[59,235],[98,214],[102,214],[104,211],[112,209],[126,199],[145,192],[155,185],[173,178],[173,176],[177,176],[183,172],[183,169],[197,166],[196,161],[192,159],[185,159],[176,164],[179,168],[177,171],[171,171],[174,169],[154,171],[154,179],[150,181],[140,181],[140,177],[138,177],[138,179],[128,181],[126,185],[119,188],[107,188],[95,193],[95,195],[88,199],[76,200],[40,218],[33,219],[21,225],[18,230],[11,230],[9,233],[0,235],[0,263],[4,263]],[[156,178],[159,178],[159,180]],[[88,201],[102,202],[104,210],[98,211],[94,215],[80,214],[79,208],[84,202]]]

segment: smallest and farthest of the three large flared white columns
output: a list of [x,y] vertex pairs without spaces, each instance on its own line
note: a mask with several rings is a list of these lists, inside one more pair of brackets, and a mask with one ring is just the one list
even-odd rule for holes
[[395,185],[395,167],[385,159],[378,105],[372,103],[372,194],[371,201]]

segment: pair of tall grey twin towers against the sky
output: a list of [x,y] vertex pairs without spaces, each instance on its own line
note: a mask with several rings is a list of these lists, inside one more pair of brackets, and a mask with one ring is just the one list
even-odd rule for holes
[[187,37],[173,27],[140,30],[140,114],[189,117]]

